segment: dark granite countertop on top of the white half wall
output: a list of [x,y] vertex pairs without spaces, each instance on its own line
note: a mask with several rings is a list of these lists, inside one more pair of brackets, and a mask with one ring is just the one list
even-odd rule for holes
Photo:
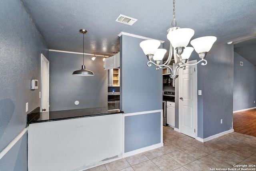
[[74,119],[79,117],[92,117],[99,115],[110,115],[116,113],[124,113],[120,109],[108,110],[108,107],[94,107],[86,109],[71,109],[60,111],[40,112],[40,107],[37,107],[27,115],[27,124],[58,121],[64,119]]

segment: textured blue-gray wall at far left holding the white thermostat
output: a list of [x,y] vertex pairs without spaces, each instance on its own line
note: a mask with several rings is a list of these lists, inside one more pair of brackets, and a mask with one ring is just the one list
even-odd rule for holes
[[[20,0],[1,1],[0,23],[2,151],[26,127],[27,113],[40,106],[40,86],[37,90],[31,90],[30,80],[40,80],[40,55],[43,53],[49,58],[49,52]],[[0,168],[5,163],[6,170],[27,170],[27,143],[24,139],[26,135],[22,137],[20,145],[13,147],[6,154],[7,157],[4,156],[0,160]],[[17,168],[17,165],[20,165],[20,168]]]

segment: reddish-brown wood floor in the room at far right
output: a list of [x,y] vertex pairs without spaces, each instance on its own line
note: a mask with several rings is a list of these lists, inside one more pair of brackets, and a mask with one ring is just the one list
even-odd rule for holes
[[256,109],[233,114],[234,131],[256,137]]

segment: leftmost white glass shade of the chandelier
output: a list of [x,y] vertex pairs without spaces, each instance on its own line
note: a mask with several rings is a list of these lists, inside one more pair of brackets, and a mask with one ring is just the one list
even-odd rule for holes
[[140,42],[140,48],[142,48],[145,55],[155,54],[160,44],[159,40],[144,40]]

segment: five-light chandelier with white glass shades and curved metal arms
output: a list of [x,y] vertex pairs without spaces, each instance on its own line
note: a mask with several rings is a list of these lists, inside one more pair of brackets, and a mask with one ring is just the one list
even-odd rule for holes
[[[175,81],[175,78],[178,78],[178,70],[180,68],[186,69],[186,66],[197,65],[202,62],[202,65],[206,65],[207,61],[204,59],[207,53],[212,48],[212,45],[217,40],[214,36],[204,36],[200,38],[196,38],[191,40],[190,44],[194,47],[187,47],[190,39],[194,36],[194,30],[190,28],[179,28],[176,27],[176,16],[175,16],[175,0],[173,0],[173,20],[172,20],[172,28],[167,30],[167,39],[170,41],[170,51],[169,56],[164,64],[160,64],[161,60],[164,58],[164,54],[166,54],[166,49],[158,49],[161,42],[159,40],[144,40],[140,43],[140,47],[142,48],[144,54],[148,57],[147,66],[156,66],[156,70],[169,68],[170,69],[170,78]],[[192,51],[195,50],[200,61],[195,64],[187,64],[188,58],[190,57]],[[169,66],[172,56],[174,58],[174,68]],[[154,62],[152,61],[154,60]]]

